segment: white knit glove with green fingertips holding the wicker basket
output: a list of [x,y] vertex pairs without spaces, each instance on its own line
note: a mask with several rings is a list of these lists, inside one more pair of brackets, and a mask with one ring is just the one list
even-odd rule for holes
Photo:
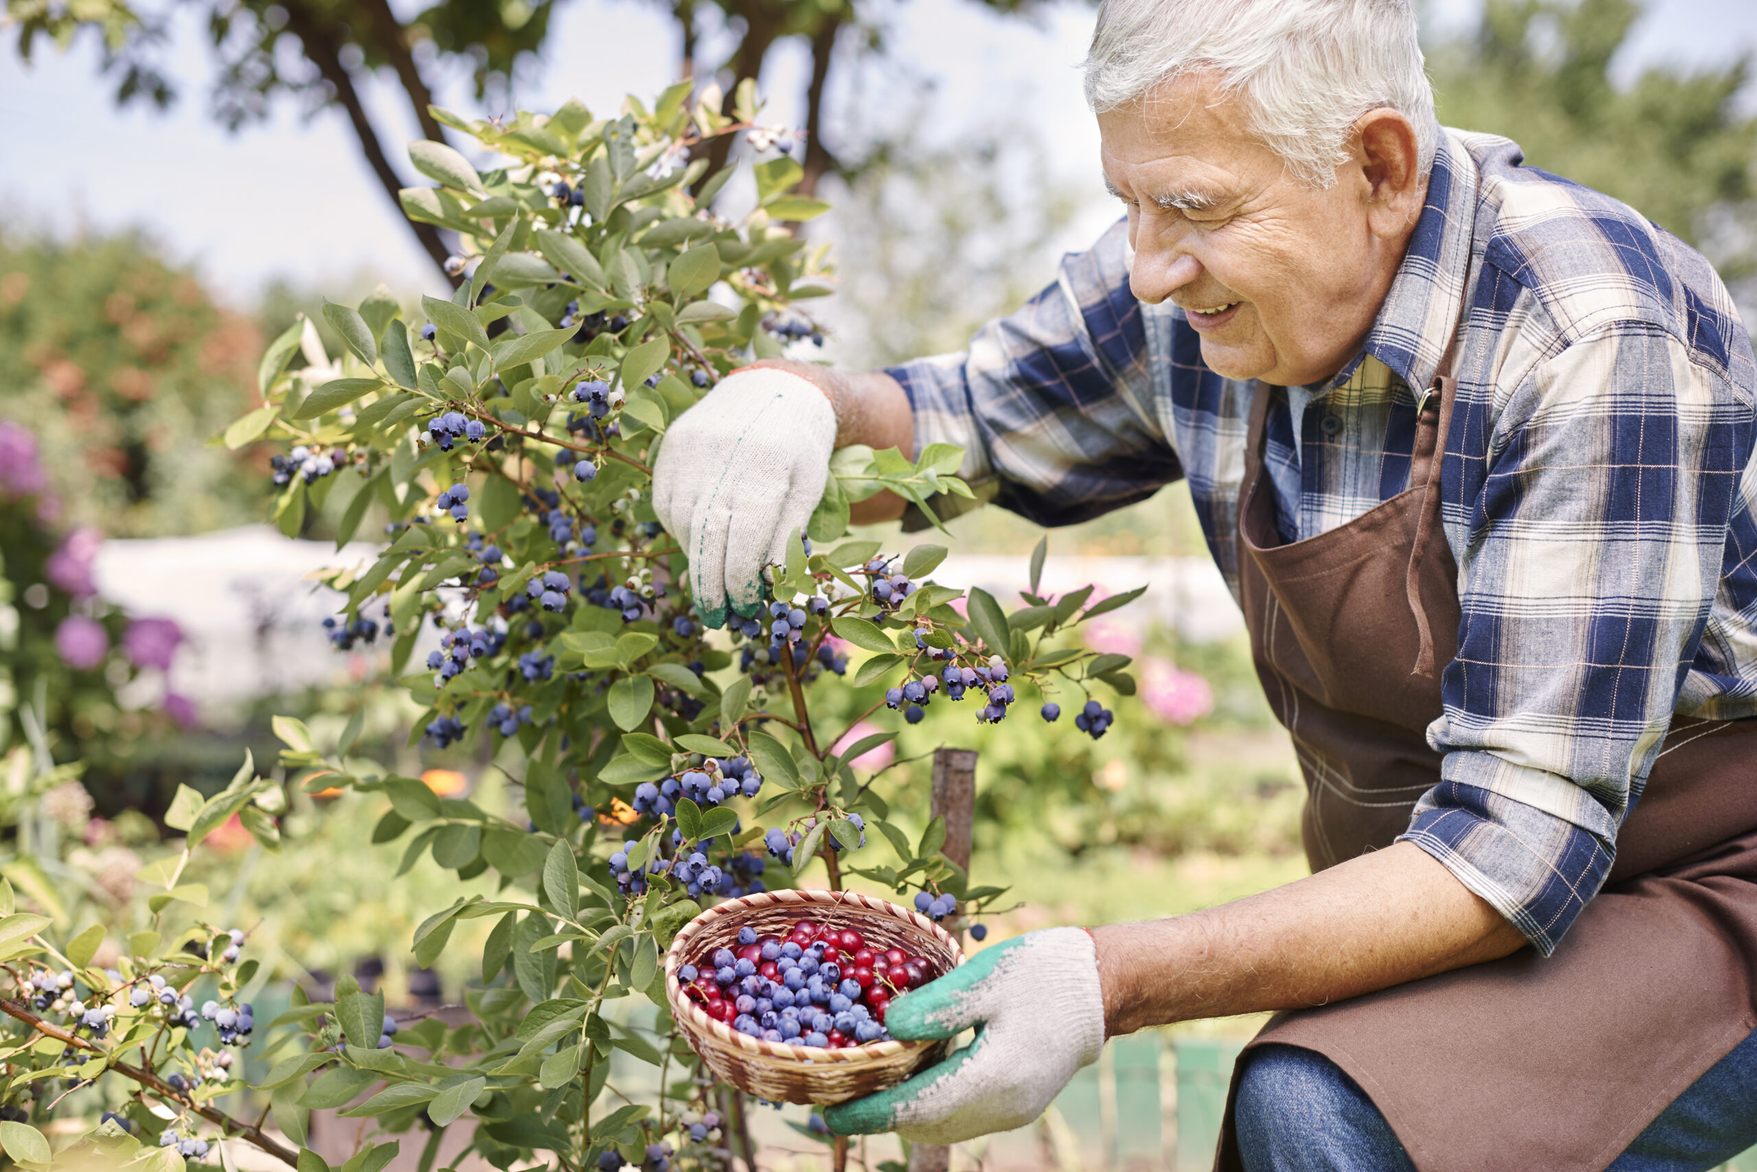
[[824,1123],[836,1135],[961,1144],[1037,1119],[1103,1047],[1093,938],[1079,928],[1014,937],[900,996],[886,1014],[891,1035],[908,1042],[970,1026],[977,1037],[965,1049],[887,1091],[826,1109]]

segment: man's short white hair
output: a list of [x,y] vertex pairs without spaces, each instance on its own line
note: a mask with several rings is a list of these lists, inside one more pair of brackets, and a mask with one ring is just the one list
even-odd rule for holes
[[1103,0],[1084,69],[1100,114],[1216,72],[1311,186],[1335,183],[1355,121],[1381,105],[1414,123],[1423,176],[1439,144],[1409,0]]

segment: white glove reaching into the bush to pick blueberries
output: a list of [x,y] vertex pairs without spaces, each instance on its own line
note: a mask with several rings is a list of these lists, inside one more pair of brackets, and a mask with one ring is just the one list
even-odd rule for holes
[[787,557],[824,496],[836,413],[791,371],[733,371],[676,416],[654,466],[654,511],[689,555],[710,627],[763,603],[763,566]]

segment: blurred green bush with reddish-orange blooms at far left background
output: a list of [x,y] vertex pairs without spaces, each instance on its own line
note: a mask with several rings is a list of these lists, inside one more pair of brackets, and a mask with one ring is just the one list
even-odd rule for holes
[[255,401],[262,336],[139,234],[0,234],[0,420],[67,522],[165,536],[262,518],[267,457],[206,446]]

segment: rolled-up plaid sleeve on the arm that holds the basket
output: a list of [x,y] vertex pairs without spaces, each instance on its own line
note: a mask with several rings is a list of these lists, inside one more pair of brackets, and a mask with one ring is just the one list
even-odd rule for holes
[[1550,954],[1611,870],[1701,643],[1752,404],[1676,337],[1623,325],[1495,406],[1483,466],[1448,469],[1476,490],[1446,518],[1464,531],[1428,727],[1446,756],[1402,838]]

